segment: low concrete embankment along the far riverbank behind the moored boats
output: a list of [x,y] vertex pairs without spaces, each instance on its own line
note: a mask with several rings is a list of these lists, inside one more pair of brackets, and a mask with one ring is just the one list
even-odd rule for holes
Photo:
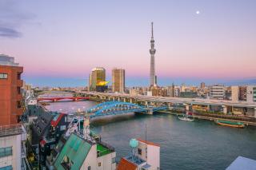
[[[172,114],[172,115],[182,115],[182,113],[173,113],[171,111],[158,111],[158,113],[168,113],[168,114]],[[238,121],[238,120],[222,118],[222,117],[206,117],[206,116],[200,116],[200,115],[193,115],[193,117],[197,118],[197,119],[207,120],[207,121],[217,121],[217,120],[235,121],[235,122],[242,122],[245,125],[256,126],[256,122],[253,122],[253,121]]]

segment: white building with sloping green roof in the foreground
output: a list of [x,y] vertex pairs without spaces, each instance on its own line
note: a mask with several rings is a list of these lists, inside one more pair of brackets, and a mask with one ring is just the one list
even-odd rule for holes
[[72,133],[50,169],[105,170],[116,168],[114,148],[103,142],[86,140]]

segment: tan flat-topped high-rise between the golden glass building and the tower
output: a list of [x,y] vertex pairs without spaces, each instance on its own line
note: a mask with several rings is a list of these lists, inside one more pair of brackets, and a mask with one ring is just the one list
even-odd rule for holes
[[112,91],[124,93],[125,90],[125,70],[113,69],[112,70]]

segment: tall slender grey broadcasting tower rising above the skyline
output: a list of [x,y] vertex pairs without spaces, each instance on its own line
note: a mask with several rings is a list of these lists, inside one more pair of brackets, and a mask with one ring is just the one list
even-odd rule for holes
[[156,80],[156,76],[155,76],[155,70],[154,70],[154,53],[155,53],[155,49],[154,49],[154,34],[153,34],[153,22],[151,22],[151,31],[152,31],[152,35],[151,35],[151,40],[150,40],[150,44],[151,44],[151,49],[150,49],[150,86],[154,86],[157,85],[157,80]]

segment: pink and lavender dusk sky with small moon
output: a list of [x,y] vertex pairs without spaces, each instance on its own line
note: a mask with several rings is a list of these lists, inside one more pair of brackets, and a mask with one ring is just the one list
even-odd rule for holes
[[254,0],[0,0],[0,53],[33,85],[87,85],[90,70],[126,69],[149,85],[154,22],[159,85],[256,77]]

